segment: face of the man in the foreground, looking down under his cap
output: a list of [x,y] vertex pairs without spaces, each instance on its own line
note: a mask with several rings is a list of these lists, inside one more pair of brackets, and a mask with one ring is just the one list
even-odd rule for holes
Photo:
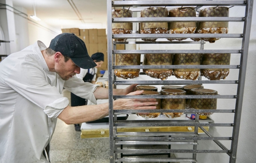
[[59,74],[62,80],[69,80],[70,77],[80,74],[80,67],[78,67],[71,59],[65,62],[64,57],[62,57],[55,65],[55,71]]

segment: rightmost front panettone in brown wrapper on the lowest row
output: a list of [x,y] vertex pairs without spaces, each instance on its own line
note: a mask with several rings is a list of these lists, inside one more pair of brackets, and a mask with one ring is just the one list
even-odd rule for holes
[[[218,92],[212,89],[194,88],[192,95],[217,95]],[[194,109],[217,109],[217,98],[192,98],[190,107]],[[213,113],[198,113],[199,115],[212,115]]]

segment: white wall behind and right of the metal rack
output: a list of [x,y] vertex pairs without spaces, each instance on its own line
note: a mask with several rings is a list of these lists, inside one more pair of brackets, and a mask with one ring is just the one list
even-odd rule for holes
[[[235,6],[230,8],[231,17],[244,17],[245,7]],[[138,14],[139,15],[139,14]],[[139,16],[138,16],[139,17]],[[242,33],[243,23],[230,22],[229,33]],[[165,41],[166,39],[158,39],[158,41]],[[190,40],[190,39],[187,39]],[[206,43],[204,49],[241,49],[242,39],[240,38],[222,38],[217,40],[215,43]],[[199,44],[140,44],[137,49],[199,49]],[[132,45],[126,46],[126,49],[133,49]],[[252,18],[251,35],[250,35],[250,46],[248,54],[247,72],[246,72],[246,83],[244,89],[244,100],[242,107],[241,125],[239,133],[238,143],[238,154],[237,163],[255,163],[256,160],[256,104],[255,104],[255,84],[256,81],[256,3],[254,3],[254,13]],[[142,58],[141,58],[142,61]],[[240,54],[231,54],[231,65],[240,64]],[[230,74],[225,80],[238,80],[238,69],[230,69]],[[141,75],[135,80],[155,80],[146,75]],[[182,80],[177,79],[174,76],[169,77],[167,80]],[[202,80],[207,80],[202,78]],[[161,89],[161,86],[156,86]],[[237,85],[204,85],[205,88],[214,89],[218,91],[218,94],[222,95],[234,95],[236,94]],[[218,109],[235,109],[235,99],[218,99]],[[214,120],[214,123],[233,123],[234,114],[230,113],[214,113],[210,115],[210,118]],[[231,137],[233,127],[210,127],[209,132],[211,135],[216,137]],[[201,134],[202,137],[207,137],[206,134]],[[230,149],[231,141],[220,141],[228,149]],[[213,141],[198,141],[198,150],[221,150]],[[193,149],[193,146],[175,146],[172,145],[172,149]],[[190,157],[192,154],[181,154],[177,153],[177,157]],[[229,156],[227,154],[198,154],[198,163],[228,163]]]

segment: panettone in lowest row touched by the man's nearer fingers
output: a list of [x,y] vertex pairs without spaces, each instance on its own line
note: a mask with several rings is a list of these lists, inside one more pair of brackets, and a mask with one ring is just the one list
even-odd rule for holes
[[[154,96],[161,95],[161,93],[156,92],[156,91],[144,91],[139,96],[143,96],[143,95],[150,95],[150,96],[152,96],[152,98],[154,98]],[[161,109],[161,99],[157,98],[156,100],[157,100],[158,104],[153,105],[153,106],[156,106],[156,109]],[[136,114],[142,116],[143,118],[156,118],[160,115],[160,113],[136,113]]]

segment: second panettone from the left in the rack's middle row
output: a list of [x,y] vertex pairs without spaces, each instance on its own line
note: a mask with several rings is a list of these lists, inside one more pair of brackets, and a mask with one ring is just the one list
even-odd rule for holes
[[[143,65],[172,65],[172,54],[145,54]],[[165,80],[171,76],[172,69],[143,69],[146,75]]]

